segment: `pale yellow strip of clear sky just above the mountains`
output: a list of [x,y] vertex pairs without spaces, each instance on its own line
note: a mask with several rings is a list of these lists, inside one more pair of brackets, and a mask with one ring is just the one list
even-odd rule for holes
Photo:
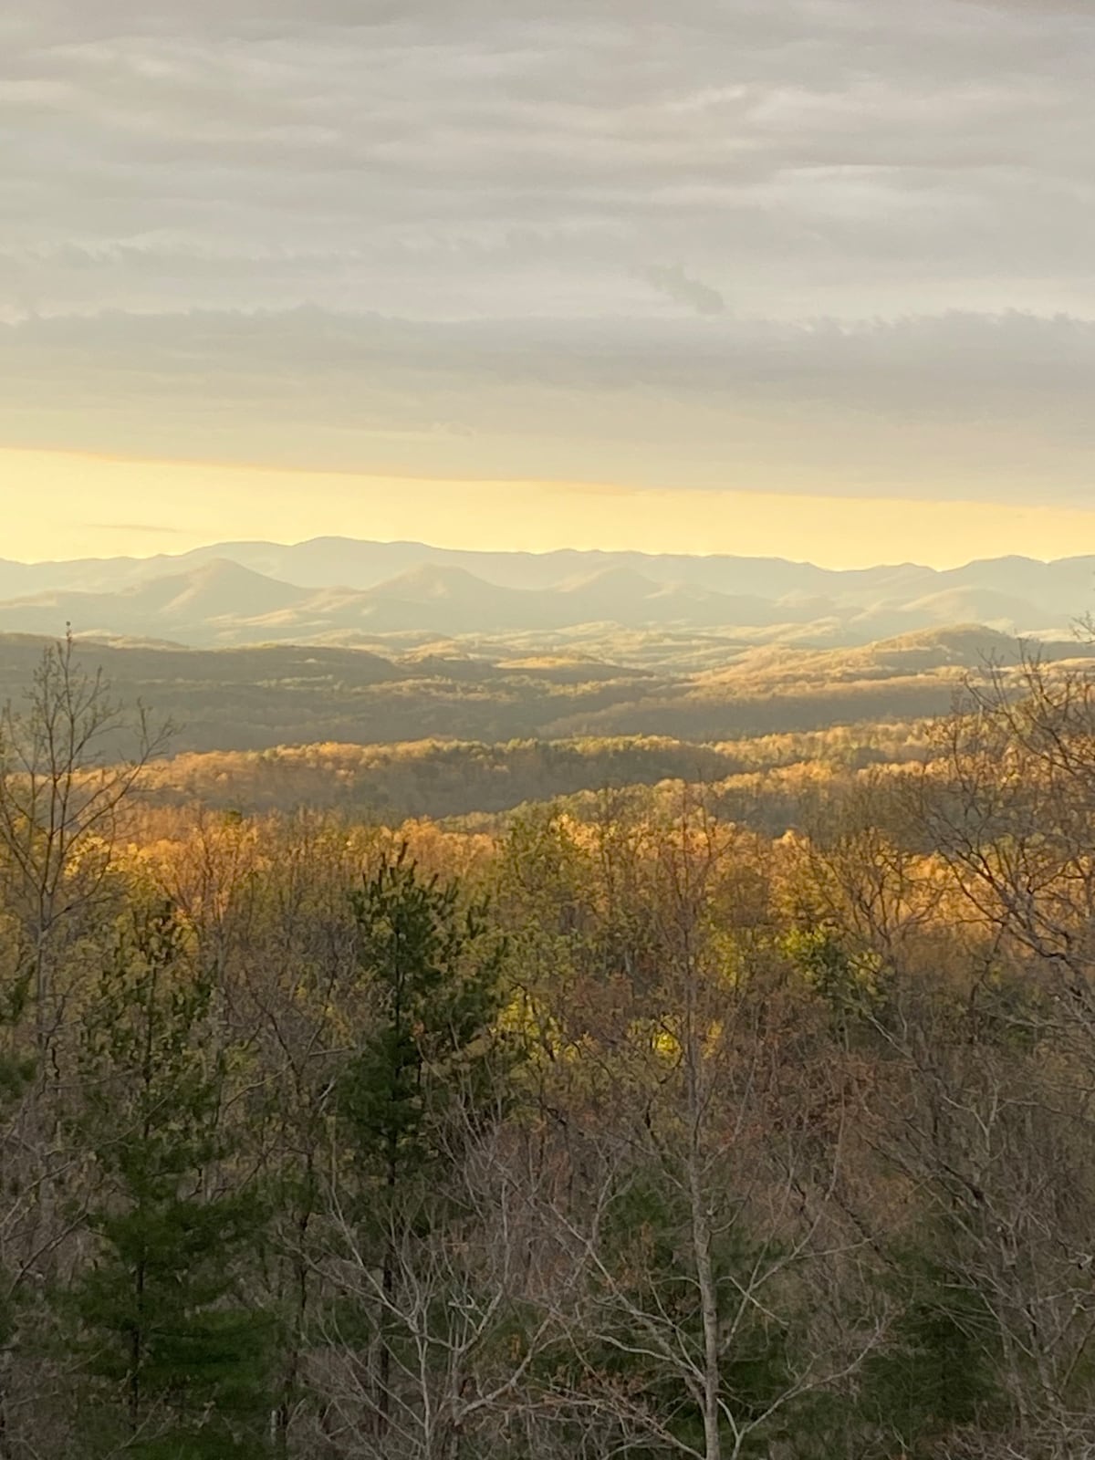
[[28,562],[327,534],[464,549],[730,552],[831,568],[1095,552],[1095,508],[409,480],[34,450],[0,450],[0,556]]

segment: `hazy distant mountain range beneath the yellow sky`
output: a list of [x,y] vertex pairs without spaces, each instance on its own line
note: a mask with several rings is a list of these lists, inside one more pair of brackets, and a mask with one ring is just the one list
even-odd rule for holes
[[1095,556],[854,571],[778,558],[458,552],[342,537],[218,543],[178,556],[0,559],[0,632],[196,647],[540,634],[585,625],[867,644],[978,623],[1067,637],[1095,600]]

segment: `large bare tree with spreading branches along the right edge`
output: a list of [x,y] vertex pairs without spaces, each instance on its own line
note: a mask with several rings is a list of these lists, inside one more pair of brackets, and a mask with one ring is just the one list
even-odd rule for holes
[[[1095,682],[990,667],[892,783],[880,818],[815,848],[845,946],[895,975],[860,1002],[877,1075],[864,1130],[1002,1384],[946,1454],[1095,1445]],[[911,848],[911,850],[910,850]],[[889,889],[889,891],[886,891]],[[885,894],[885,895],[883,895]],[[888,1175],[886,1175],[888,1172]]]

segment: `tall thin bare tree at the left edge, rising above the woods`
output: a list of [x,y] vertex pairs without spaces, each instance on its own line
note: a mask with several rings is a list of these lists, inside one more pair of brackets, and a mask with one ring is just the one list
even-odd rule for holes
[[80,1219],[79,1153],[61,1126],[64,1023],[121,902],[114,872],[127,800],[166,734],[80,667],[72,637],[44,650],[25,701],[0,710],[0,1308],[10,1339],[0,1350],[0,1456],[22,1454],[19,1437],[55,1409],[42,1397],[51,1367],[16,1374],[13,1349]]

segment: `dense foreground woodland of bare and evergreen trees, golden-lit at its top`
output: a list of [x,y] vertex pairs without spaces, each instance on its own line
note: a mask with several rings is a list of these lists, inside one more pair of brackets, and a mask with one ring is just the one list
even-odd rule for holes
[[0,1457],[1095,1454],[1094,695],[1028,660],[873,745],[571,745],[661,784],[384,823],[218,802],[47,648]]

